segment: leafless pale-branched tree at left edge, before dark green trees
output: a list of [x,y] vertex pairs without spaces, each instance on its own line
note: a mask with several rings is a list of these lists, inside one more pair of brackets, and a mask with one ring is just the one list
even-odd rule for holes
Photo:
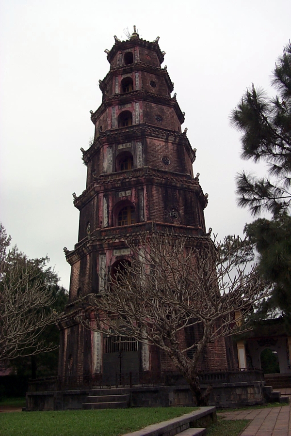
[[0,224],[0,361],[50,351],[39,336],[55,324],[57,312],[49,306],[52,290],[41,267],[45,259],[28,259]]

